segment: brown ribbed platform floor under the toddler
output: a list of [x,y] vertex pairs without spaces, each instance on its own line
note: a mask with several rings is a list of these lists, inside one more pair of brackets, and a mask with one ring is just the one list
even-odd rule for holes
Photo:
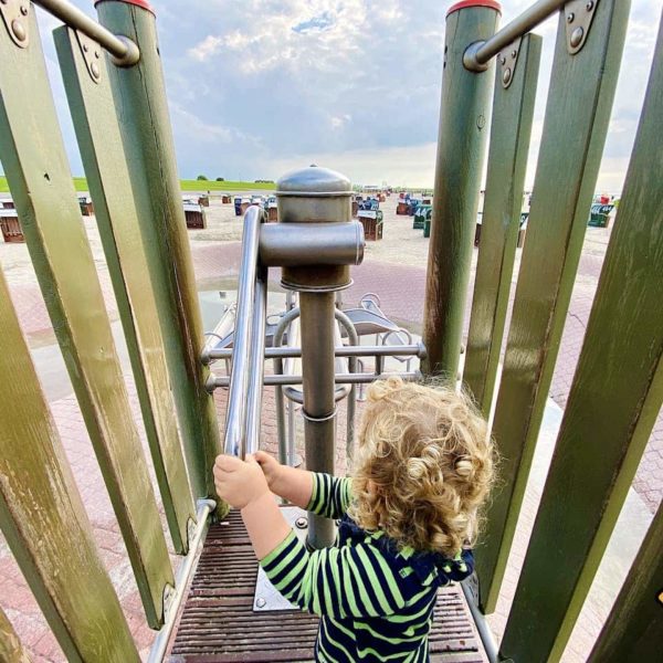
[[[313,661],[318,618],[254,612],[257,560],[238,512],[210,527],[172,646],[170,663]],[[462,591],[440,591],[431,661],[486,661]]]

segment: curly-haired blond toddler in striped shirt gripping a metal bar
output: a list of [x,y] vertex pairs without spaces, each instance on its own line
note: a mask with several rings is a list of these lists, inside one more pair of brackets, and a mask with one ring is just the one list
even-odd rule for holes
[[[472,572],[477,512],[493,482],[486,423],[449,388],[375,382],[352,478],[280,465],[257,452],[214,465],[242,509],[257,559],[291,602],[320,615],[316,661],[429,661],[438,589]],[[336,544],[309,552],[271,493],[340,518]]]

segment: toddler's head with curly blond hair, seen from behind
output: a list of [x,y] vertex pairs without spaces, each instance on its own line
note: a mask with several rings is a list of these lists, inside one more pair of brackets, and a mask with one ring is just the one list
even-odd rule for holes
[[368,390],[350,514],[400,547],[453,556],[477,534],[494,449],[470,398],[390,378]]

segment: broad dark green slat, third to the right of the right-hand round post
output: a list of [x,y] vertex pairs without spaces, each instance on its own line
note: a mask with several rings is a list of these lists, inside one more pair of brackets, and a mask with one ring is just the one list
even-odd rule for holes
[[[503,639],[503,652],[518,661],[559,660],[663,403],[662,113],[660,35],[619,214]],[[659,526],[659,540],[660,534]],[[645,578],[652,571],[639,572]],[[663,612],[663,606],[656,608]],[[636,628],[632,624],[631,632]]]

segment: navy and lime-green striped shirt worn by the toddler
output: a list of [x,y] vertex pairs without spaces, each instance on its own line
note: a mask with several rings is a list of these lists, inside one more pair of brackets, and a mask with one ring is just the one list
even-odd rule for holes
[[429,661],[438,589],[472,572],[472,552],[449,559],[412,548],[399,551],[383,533],[366,532],[346,514],[350,482],[314,474],[307,509],[341,518],[335,546],[309,552],[291,532],[261,565],[286,599],[322,618],[316,661]]

